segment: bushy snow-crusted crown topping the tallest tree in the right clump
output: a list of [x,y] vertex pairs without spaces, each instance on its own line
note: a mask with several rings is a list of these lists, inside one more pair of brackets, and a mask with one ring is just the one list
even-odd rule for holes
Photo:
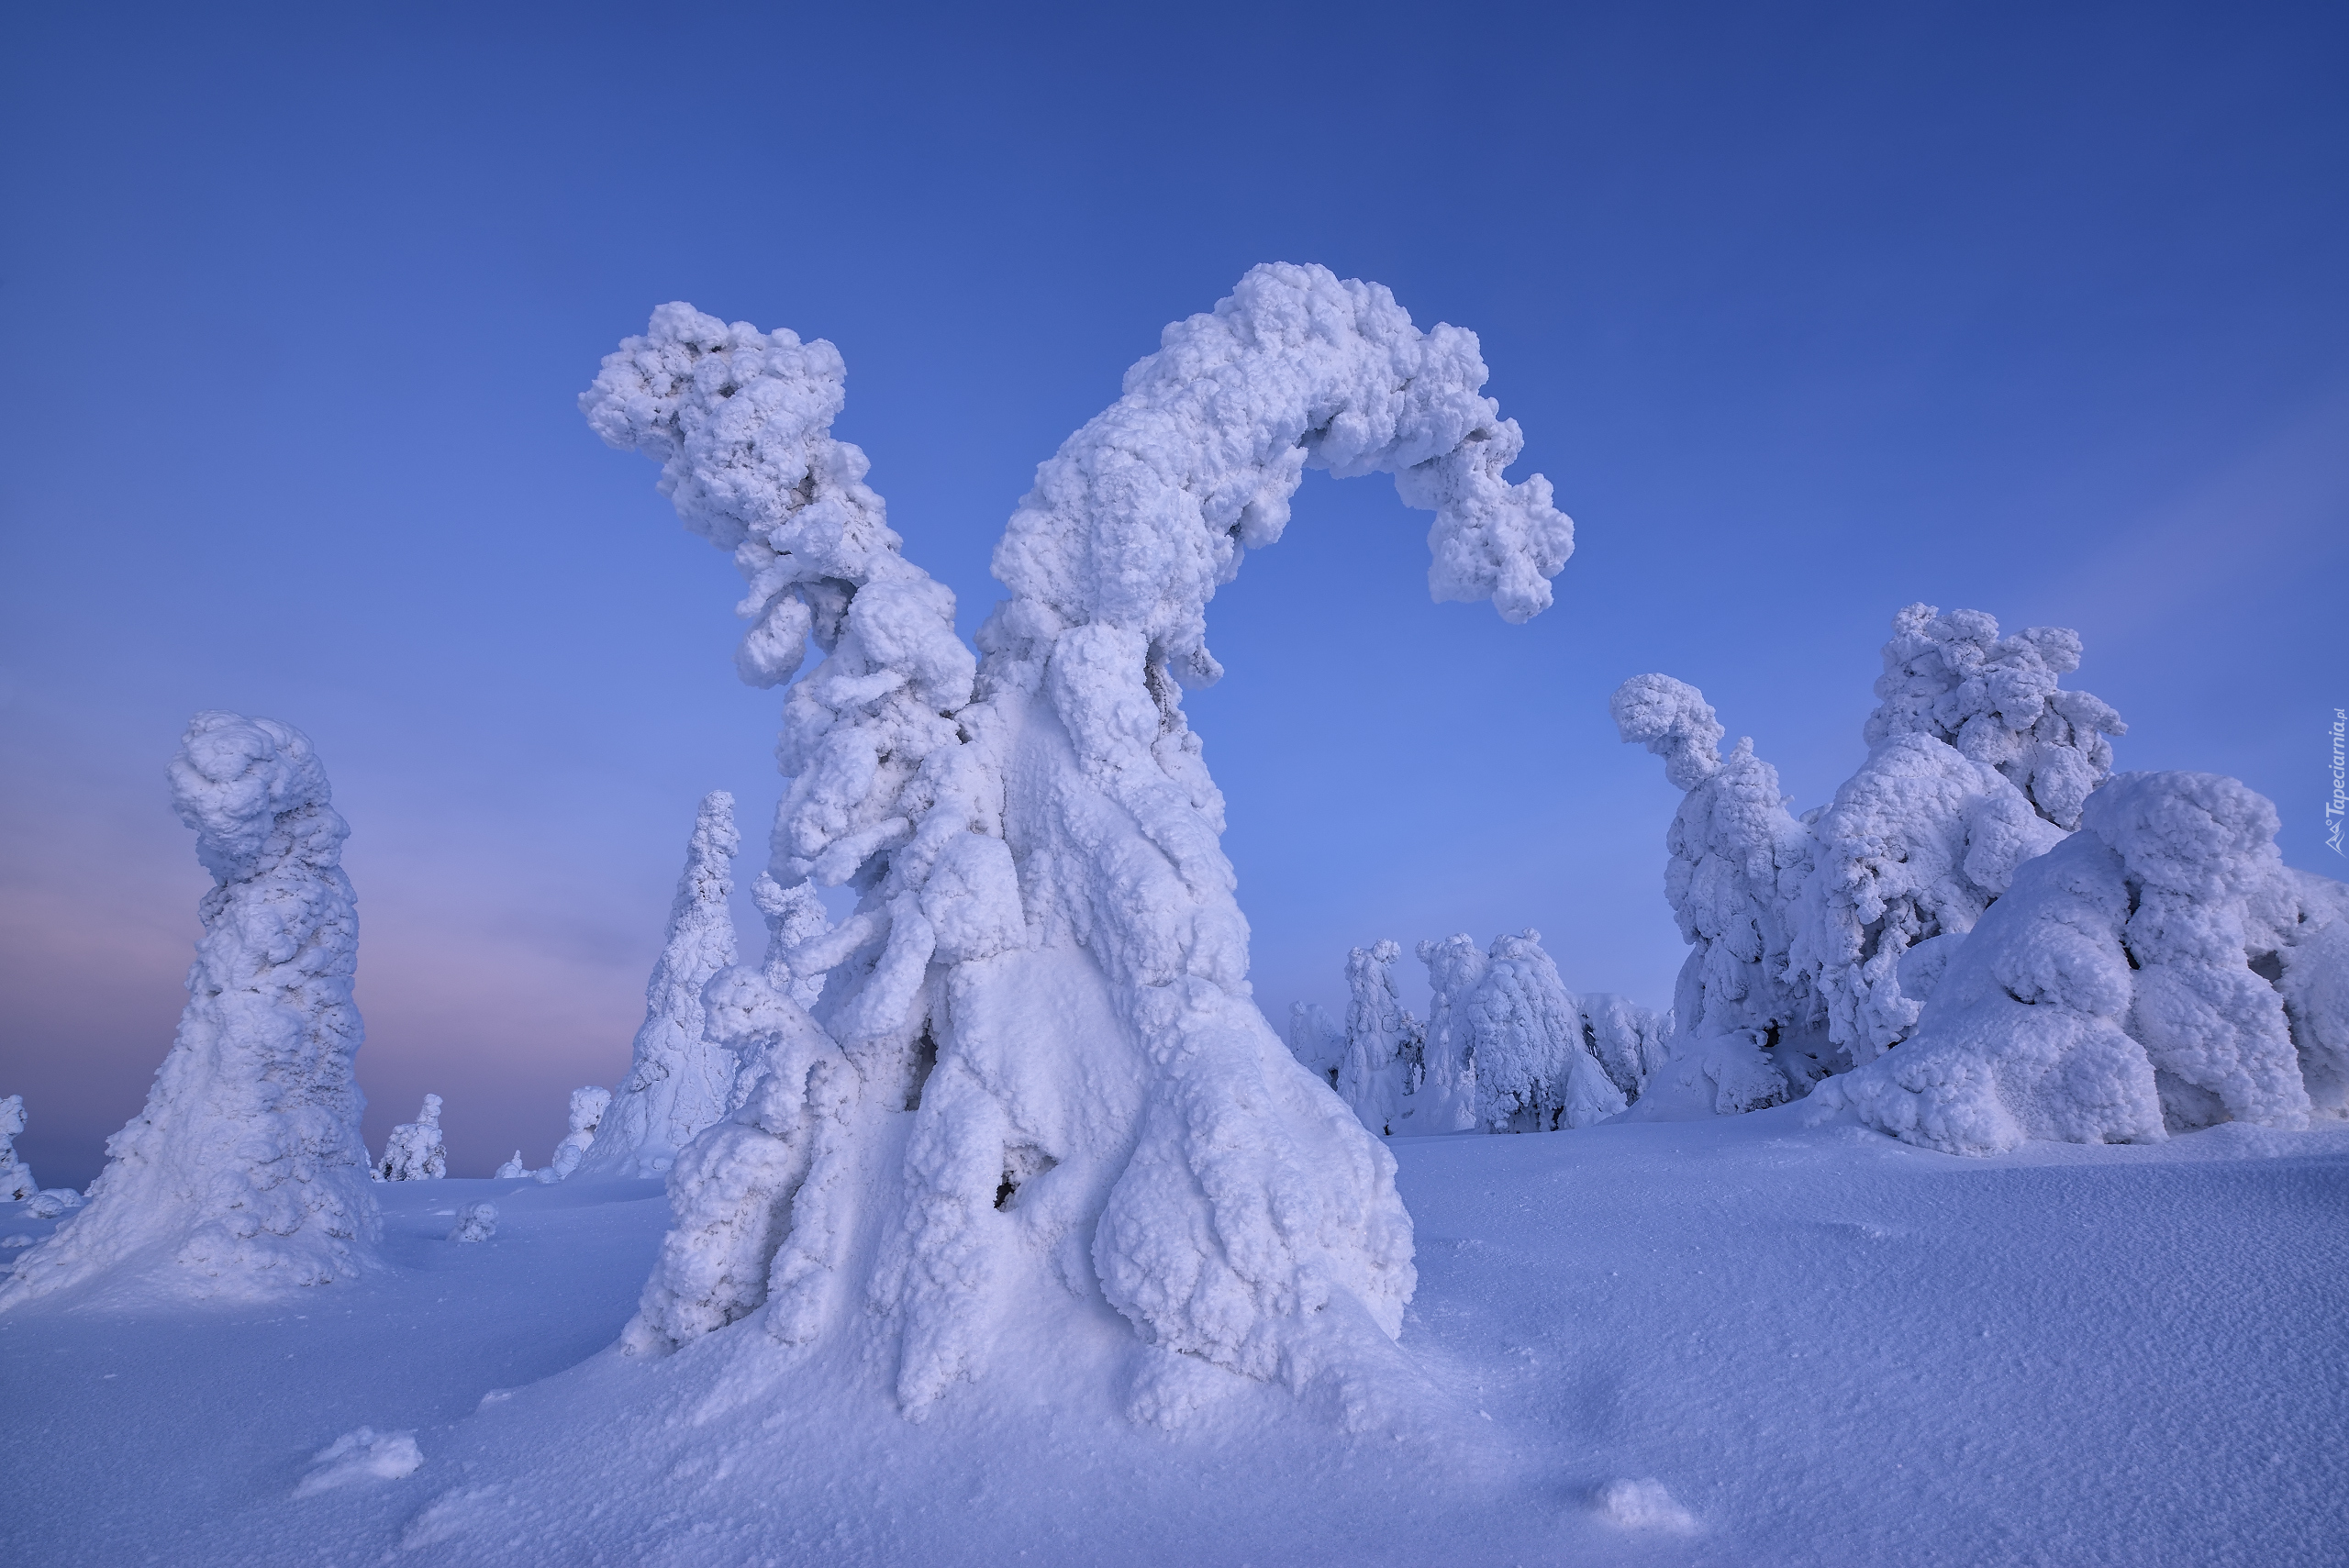
[[1990,763],[2032,807],[2062,829],[2079,826],[2088,791],[2112,777],[2112,742],[2128,725],[2098,697],[2055,685],[2079,669],[2079,631],[2027,627],[1999,636],[1983,610],[1912,603],[1893,615],[1877,678],[1877,711],[1863,737],[1931,735],[1976,763]]

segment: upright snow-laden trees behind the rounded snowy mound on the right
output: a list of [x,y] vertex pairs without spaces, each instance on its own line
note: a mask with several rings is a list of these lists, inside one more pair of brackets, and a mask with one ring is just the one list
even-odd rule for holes
[[1980,610],[1907,606],[1884,643],[1867,761],[1802,819],[1750,739],[1719,756],[1694,685],[1649,674],[1616,690],[1623,739],[1687,791],[1665,838],[1665,899],[1691,948],[1670,1101],[1771,1106],[1917,1028],[1964,934],[2112,772],[2107,735],[2123,725],[2058,688],[2077,667],[2072,631],[2001,638]]

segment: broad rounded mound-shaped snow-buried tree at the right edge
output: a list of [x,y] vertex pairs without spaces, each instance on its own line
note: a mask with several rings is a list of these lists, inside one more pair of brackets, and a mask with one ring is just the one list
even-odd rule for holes
[[[2121,775],[1983,915],[1917,1035],[1813,1101],[1952,1155],[2297,1129],[2311,1099],[2340,1115],[2340,885],[2286,871],[2264,796],[2208,772]],[[2316,974],[2330,995],[2304,1000]]]

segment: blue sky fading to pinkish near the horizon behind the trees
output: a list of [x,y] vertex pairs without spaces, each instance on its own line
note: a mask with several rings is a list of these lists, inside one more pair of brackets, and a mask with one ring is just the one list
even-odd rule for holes
[[1703,685],[1813,805],[1914,599],[2079,627],[2123,765],[2239,775],[2342,873],[2337,5],[7,31],[0,1094],[52,1183],[171,1038],[207,707],[308,730],[352,822],[371,1141],[435,1089],[458,1174],[543,1162],[620,1075],[695,798],[756,840],[780,791],[731,566],[573,406],[669,298],[841,345],[965,631],[1034,465],[1250,263],[1482,336],[1579,523],[1557,606],[1431,606],[1426,519],[1318,474],[1214,606],[1189,709],[1276,1021],[1351,944],[1522,925],[1663,1005],[1677,796],[1607,692]]

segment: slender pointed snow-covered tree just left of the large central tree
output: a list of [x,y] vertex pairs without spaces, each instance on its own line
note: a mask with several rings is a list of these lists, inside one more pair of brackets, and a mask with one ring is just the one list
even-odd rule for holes
[[693,1134],[733,1106],[735,1054],[709,1038],[702,988],[733,967],[733,857],[742,847],[733,796],[702,796],[686,845],[686,873],[669,906],[669,934],[644,988],[644,1028],[627,1077],[611,1096],[583,1176],[660,1176]]

